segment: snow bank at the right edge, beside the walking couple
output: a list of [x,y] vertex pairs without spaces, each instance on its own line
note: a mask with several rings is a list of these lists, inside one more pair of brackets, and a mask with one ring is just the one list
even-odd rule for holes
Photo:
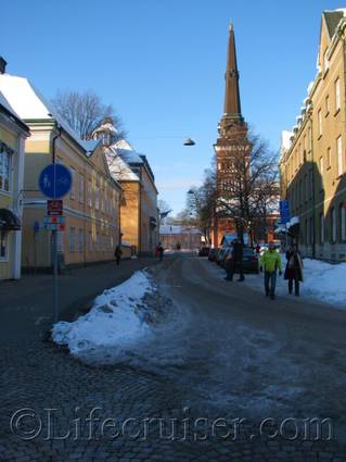
[[346,307],[346,263],[304,260],[303,290],[319,300]]

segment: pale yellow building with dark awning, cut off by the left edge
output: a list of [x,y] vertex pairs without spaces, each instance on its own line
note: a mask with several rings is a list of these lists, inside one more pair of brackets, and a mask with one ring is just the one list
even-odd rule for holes
[[21,277],[21,193],[28,135],[28,127],[0,92],[0,279]]

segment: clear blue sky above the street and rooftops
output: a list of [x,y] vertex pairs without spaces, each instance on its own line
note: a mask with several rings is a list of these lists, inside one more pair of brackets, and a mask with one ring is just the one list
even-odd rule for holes
[[[175,212],[203,178],[223,110],[228,25],[242,111],[272,149],[316,74],[323,10],[334,0],[7,0],[0,54],[47,97],[92,88],[145,153]],[[196,146],[182,145],[192,137]]]

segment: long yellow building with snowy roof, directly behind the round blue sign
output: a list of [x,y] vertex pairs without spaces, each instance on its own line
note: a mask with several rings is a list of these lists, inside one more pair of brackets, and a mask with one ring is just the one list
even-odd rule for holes
[[65,230],[59,233],[60,264],[112,260],[119,242],[121,188],[110,174],[101,142],[80,140],[26,78],[2,74],[0,91],[31,133],[25,143],[22,265],[52,265],[51,232],[42,226],[47,198],[38,190],[38,176],[54,154],[73,174],[64,198]]

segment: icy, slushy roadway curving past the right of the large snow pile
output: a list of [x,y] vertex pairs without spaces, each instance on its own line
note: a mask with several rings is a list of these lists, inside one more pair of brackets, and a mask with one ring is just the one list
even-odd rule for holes
[[346,312],[272,301],[223,280],[213,265],[178,259],[161,275],[166,295],[191,312],[188,342],[174,344],[179,379],[228,415],[331,419],[337,438],[346,437]]

